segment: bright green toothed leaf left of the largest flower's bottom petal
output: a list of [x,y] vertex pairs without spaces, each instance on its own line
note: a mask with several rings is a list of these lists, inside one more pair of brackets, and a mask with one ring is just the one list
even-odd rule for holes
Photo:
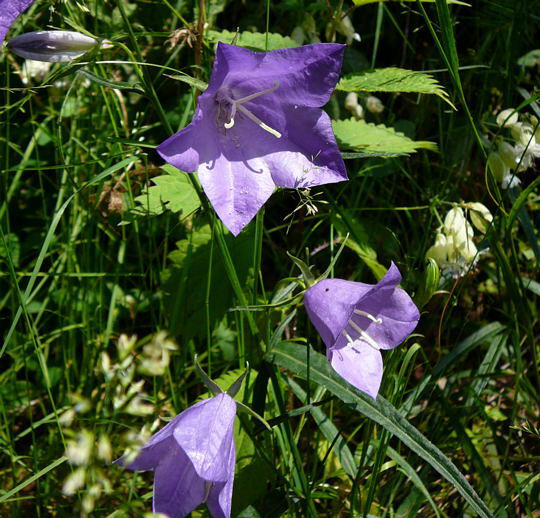
[[201,205],[199,196],[191,184],[188,174],[166,164],[166,174],[152,178],[154,185],[135,198],[135,214],[157,216],[166,210],[181,212],[187,216]]

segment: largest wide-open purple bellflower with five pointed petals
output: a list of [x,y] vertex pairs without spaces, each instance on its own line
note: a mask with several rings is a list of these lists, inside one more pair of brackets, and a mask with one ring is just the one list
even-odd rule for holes
[[225,226],[237,235],[276,186],[347,180],[328,115],[343,45],[270,52],[219,43],[210,83],[193,120],[157,148],[170,164],[197,171]]

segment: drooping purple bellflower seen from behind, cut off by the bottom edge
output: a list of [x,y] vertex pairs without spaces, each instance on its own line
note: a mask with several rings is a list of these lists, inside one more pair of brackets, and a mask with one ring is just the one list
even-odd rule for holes
[[[205,399],[154,434],[126,466],[154,470],[154,512],[182,518],[206,502],[213,518],[230,517],[235,415],[236,403],[228,394]],[[116,463],[125,464],[123,459]]]

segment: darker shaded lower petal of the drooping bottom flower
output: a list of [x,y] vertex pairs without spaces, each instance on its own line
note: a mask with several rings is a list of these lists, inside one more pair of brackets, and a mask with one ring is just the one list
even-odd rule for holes
[[205,481],[177,445],[156,468],[153,511],[183,518],[203,502],[205,492]]

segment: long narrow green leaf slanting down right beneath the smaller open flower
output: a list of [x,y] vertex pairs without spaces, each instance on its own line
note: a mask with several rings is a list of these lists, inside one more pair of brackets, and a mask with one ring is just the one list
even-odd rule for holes
[[309,365],[309,379],[312,382],[322,385],[348,406],[380,424],[400,439],[403,444],[411,448],[448,480],[479,516],[482,518],[493,516],[450,459],[412,426],[394,406],[381,396],[373,401],[368,395],[355,389],[334,372],[322,354],[313,350],[309,351],[308,362],[307,353],[308,349],[305,346],[281,342],[267,355],[267,359],[303,378],[307,378]]

